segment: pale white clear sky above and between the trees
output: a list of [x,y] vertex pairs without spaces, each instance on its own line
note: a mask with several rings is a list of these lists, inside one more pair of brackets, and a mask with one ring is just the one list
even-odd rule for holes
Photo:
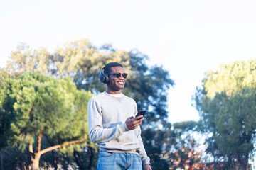
[[191,96],[204,73],[255,59],[255,8],[254,0],[1,0],[0,67],[18,42],[50,52],[78,39],[137,49],[176,82],[169,91],[169,121],[198,120]]

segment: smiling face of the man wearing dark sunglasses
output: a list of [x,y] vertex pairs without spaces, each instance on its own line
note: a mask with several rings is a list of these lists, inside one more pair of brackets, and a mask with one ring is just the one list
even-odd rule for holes
[[114,73],[124,73],[124,69],[122,67],[111,67],[111,72],[109,74],[110,82],[107,84],[107,89],[113,93],[120,93],[122,89],[124,89],[124,84],[126,79],[124,77],[117,78]]

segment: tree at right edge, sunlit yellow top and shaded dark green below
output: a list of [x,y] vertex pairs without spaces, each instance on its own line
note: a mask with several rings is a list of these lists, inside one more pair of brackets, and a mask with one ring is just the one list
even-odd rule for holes
[[206,132],[221,152],[246,169],[256,133],[255,60],[222,65],[208,72],[196,91],[196,107]]

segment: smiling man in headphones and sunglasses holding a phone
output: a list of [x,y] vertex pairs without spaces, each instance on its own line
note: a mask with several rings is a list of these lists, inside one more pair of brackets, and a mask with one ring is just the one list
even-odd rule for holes
[[100,147],[99,170],[139,170],[142,164],[151,170],[139,127],[143,115],[135,118],[137,103],[121,92],[126,78],[122,64],[110,62],[100,72],[107,91],[88,103],[90,140]]

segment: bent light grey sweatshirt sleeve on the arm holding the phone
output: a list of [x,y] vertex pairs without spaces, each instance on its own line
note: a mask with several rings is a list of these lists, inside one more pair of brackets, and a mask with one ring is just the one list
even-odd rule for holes
[[93,97],[88,102],[87,111],[89,136],[92,142],[109,142],[128,131],[125,123],[112,128],[103,128],[101,108]]

